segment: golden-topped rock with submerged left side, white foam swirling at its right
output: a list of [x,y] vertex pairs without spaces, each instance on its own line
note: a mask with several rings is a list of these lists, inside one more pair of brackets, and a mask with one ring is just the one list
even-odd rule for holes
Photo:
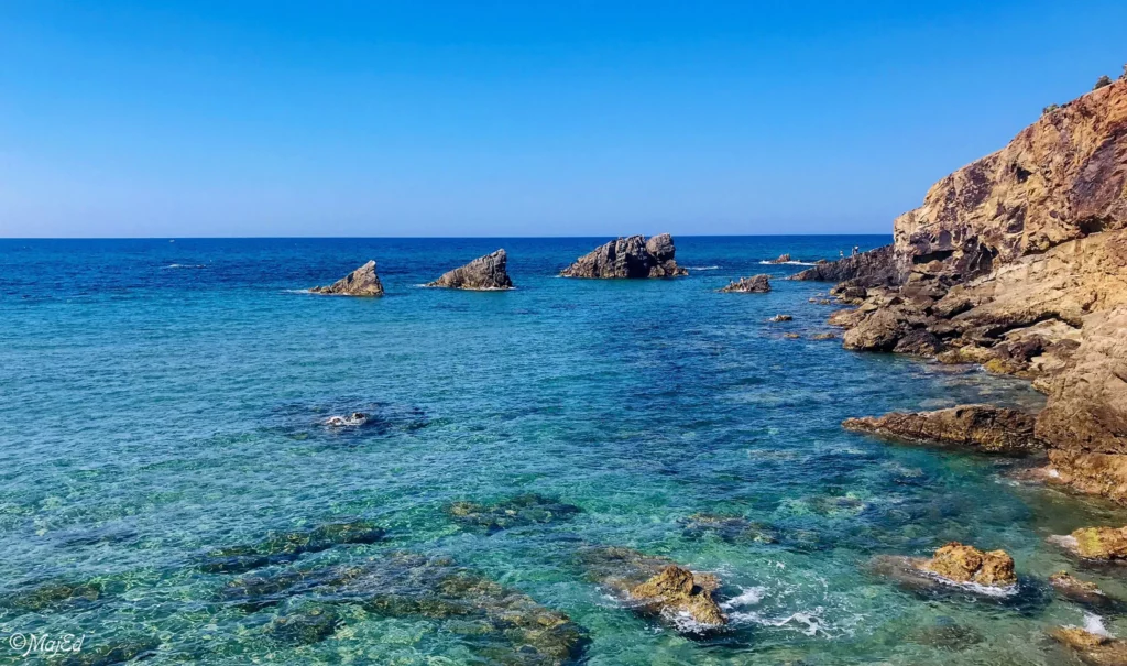
[[678,631],[700,632],[728,623],[712,598],[720,580],[698,574],[667,558],[629,548],[593,548],[580,553],[588,576],[636,611],[656,615]]

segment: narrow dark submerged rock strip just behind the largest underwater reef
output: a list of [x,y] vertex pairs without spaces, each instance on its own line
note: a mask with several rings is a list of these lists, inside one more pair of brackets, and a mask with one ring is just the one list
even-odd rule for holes
[[292,562],[308,552],[320,552],[346,543],[375,543],[383,530],[370,521],[330,523],[308,532],[270,533],[249,545],[220,548],[207,552],[199,570],[207,574],[238,574],[270,565]]

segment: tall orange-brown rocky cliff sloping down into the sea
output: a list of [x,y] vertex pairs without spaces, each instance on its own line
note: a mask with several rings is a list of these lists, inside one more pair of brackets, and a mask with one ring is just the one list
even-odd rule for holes
[[833,316],[848,348],[1032,380],[1050,476],[1127,504],[1127,80],[940,180],[893,245],[793,278],[863,287]]

